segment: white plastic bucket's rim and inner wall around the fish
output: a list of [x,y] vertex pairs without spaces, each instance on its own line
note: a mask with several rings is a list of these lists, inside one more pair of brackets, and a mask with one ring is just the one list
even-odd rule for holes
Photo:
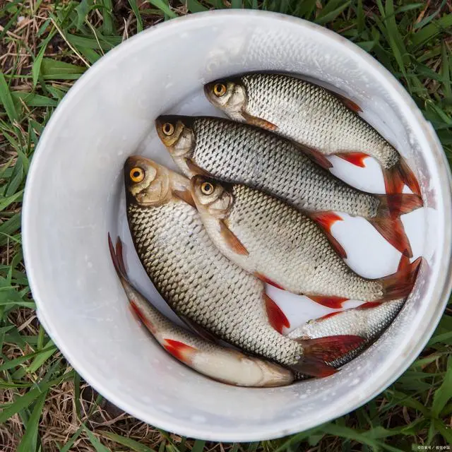
[[[258,70],[316,78],[364,106],[415,167],[428,213],[420,225],[428,265],[381,340],[328,379],[272,389],[207,379],[150,340],[129,312],[106,241],[107,232],[124,234],[124,218],[118,218],[122,166],[127,155],[140,153],[155,117],[174,112],[187,93],[207,81]],[[196,113],[196,107],[192,110]],[[162,145],[153,155],[172,163]],[[344,38],[304,20],[215,11],[171,20],[127,40],[74,85],[32,160],[23,247],[40,321],[97,391],[171,432],[255,441],[343,415],[410,365],[434,331],[451,290],[450,225],[450,172],[441,145],[386,69]],[[132,275],[143,272],[133,265]]]

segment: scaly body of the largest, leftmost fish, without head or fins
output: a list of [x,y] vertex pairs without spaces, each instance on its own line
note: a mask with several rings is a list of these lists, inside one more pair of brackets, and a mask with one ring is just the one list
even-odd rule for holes
[[222,256],[196,209],[178,200],[151,208],[129,202],[127,212],[138,256],[175,311],[244,350],[298,362],[302,346],[268,323],[263,284]]

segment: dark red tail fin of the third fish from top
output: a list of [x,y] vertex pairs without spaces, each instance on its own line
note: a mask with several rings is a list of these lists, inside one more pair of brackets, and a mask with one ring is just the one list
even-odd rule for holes
[[[379,278],[383,285],[383,297],[377,301],[387,302],[392,299],[406,298],[410,295],[412,287],[415,285],[417,272],[420,269],[422,257],[418,257],[414,262],[402,265],[402,268],[392,275]],[[400,264],[399,264],[400,267]]]

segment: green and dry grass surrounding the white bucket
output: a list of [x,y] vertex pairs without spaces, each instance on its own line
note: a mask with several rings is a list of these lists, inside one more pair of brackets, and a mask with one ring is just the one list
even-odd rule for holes
[[114,46],[187,13],[260,8],[339,32],[405,85],[451,158],[450,0],[3,0],[0,8],[1,451],[370,452],[452,445],[450,308],[410,369],[362,408],[285,439],[206,443],[143,424],[81,380],[37,321],[20,246],[25,177],[58,102]]

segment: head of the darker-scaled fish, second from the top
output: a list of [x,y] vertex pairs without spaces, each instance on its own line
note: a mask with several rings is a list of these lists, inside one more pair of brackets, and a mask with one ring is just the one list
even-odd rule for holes
[[193,153],[195,147],[193,121],[192,117],[172,114],[155,119],[157,134],[174,160],[189,158]]

